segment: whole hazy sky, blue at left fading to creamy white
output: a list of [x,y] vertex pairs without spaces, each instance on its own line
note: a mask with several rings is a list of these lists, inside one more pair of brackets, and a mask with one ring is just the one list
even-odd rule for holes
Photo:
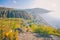
[[44,8],[51,10],[49,16],[60,19],[60,0],[0,0],[0,6],[13,8]]

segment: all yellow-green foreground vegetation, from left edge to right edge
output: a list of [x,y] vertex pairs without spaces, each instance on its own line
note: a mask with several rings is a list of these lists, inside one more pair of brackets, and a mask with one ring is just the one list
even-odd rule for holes
[[[29,21],[31,22],[31,21]],[[15,31],[16,28],[26,28],[25,31],[39,33],[41,36],[49,36],[49,35],[56,35],[60,36],[60,30],[55,29],[51,26],[47,25],[36,25],[31,24],[26,25],[23,19],[20,18],[6,18],[0,19],[0,40],[18,40],[18,30]]]

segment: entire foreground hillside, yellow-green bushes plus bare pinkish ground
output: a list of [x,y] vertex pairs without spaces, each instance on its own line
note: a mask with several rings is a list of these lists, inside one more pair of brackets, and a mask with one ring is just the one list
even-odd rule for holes
[[[2,31],[1,31],[2,30]],[[0,39],[6,40],[59,40],[60,30],[47,25],[26,26],[24,19],[0,19]],[[51,36],[52,35],[52,36]],[[6,37],[7,36],[7,37]],[[4,40],[5,40],[4,39]]]

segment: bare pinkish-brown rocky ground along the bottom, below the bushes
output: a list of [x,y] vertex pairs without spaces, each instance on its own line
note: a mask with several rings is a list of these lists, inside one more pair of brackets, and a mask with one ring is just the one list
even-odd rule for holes
[[50,37],[44,38],[36,33],[25,32],[19,34],[19,40],[60,40],[60,37],[50,35]]

